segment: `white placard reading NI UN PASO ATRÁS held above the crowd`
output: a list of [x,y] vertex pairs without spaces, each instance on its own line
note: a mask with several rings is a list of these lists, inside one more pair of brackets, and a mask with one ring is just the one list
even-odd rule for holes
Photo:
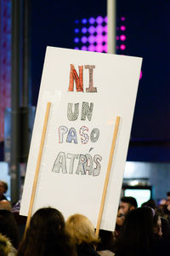
[[79,212],[96,226],[116,117],[120,116],[100,225],[114,230],[141,62],[138,57],[47,48],[21,215],[28,214],[45,111],[51,102],[32,213],[40,207],[56,207],[65,218]]

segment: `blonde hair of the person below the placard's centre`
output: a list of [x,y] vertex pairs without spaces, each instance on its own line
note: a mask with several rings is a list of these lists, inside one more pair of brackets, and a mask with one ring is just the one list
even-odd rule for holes
[[65,223],[65,228],[70,234],[74,244],[98,243],[99,239],[94,232],[94,225],[82,214],[74,214]]

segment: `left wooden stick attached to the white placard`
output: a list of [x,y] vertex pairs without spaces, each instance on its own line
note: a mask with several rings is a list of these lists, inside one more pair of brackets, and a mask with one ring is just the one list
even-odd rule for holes
[[[30,207],[29,207],[28,216],[27,216],[27,219],[26,219],[26,230],[27,230],[28,226],[30,225],[31,212],[32,212],[33,204],[34,204],[34,198],[35,198],[35,195],[36,195],[37,179],[38,179],[38,174],[39,174],[40,165],[41,165],[42,149],[43,149],[43,144],[44,144],[44,141],[45,141],[45,135],[46,135],[47,125],[48,125],[48,115],[49,115],[50,107],[51,107],[51,102],[48,102],[47,103],[47,108],[46,108],[46,113],[45,113],[45,119],[44,119],[44,123],[43,123],[43,129],[42,129],[42,138],[41,138],[39,153],[38,153],[38,157],[37,157],[37,166],[36,166],[36,172],[35,172],[35,176],[34,176],[34,183],[33,183],[32,192],[31,192]],[[26,235],[26,230],[25,230],[25,235]]]

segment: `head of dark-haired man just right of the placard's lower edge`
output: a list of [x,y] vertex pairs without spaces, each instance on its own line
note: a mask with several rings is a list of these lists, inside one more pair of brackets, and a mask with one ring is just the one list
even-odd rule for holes
[[127,214],[127,212],[132,211],[138,207],[137,201],[132,196],[123,196],[120,202],[119,211],[122,212],[122,214]]

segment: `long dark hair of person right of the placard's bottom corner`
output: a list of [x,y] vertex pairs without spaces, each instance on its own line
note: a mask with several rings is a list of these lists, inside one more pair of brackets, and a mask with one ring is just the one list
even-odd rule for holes
[[117,241],[116,255],[138,256],[149,253],[154,239],[153,227],[150,207],[139,207],[128,212]]

